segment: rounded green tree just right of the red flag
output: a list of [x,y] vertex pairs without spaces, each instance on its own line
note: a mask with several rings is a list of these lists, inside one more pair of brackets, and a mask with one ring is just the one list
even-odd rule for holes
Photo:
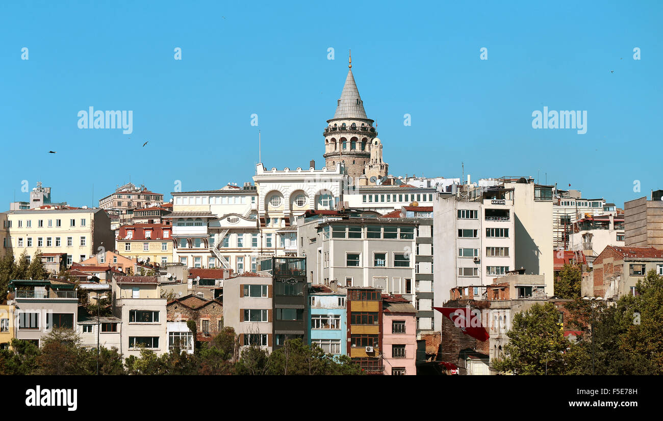
[[578,351],[568,341],[558,324],[559,312],[554,304],[534,304],[529,310],[513,316],[513,326],[507,332],[509,343],[505,357],[493,359],[497,371],[518,375],[568,374],[569,361],[575,361]]

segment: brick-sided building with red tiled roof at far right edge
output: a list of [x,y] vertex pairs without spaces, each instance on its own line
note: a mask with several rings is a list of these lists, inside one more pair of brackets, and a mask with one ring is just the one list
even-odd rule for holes
[[595,259],[589,276],[583,277],[582,294],[613,300],[636,294],[636,283],[650,270],[663,274],[663,250],[609,245]]

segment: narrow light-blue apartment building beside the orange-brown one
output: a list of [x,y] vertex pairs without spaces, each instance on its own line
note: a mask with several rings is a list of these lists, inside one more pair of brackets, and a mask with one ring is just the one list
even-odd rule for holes
[[347,355],[345,291],[334,291],[326,285],[310,285],[308,298],[311,345],[318,345],[325,353],[334,356]]

